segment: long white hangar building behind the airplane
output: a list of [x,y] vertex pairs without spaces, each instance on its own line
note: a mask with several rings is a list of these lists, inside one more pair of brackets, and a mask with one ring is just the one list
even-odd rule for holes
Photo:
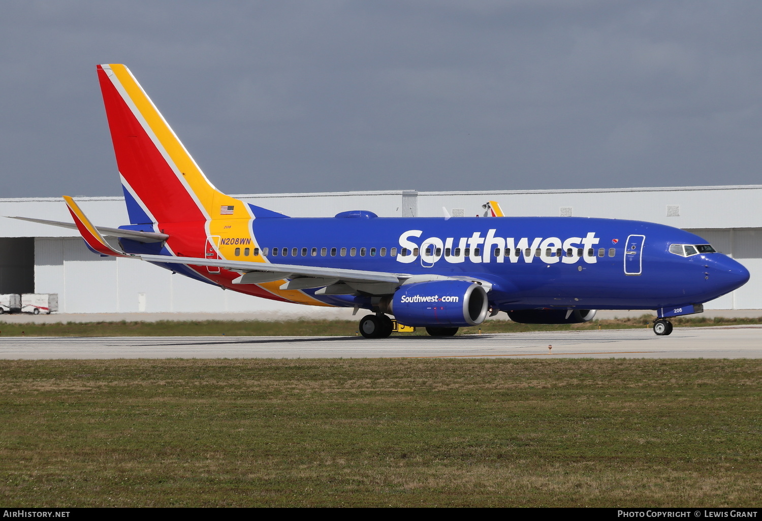
[[[762,185],[495,192],[266,193],[239,199],[294,217],[367,209],[382,217],[476,216],[498,201],[507,216],[638,219],[687,229],[751,272],[707,309],[762,308]],[[121,197],[75,198],[94,224],[127,224]],[[71,222],[61,199],[0,199],[0,216]],[[0,218],[0,293],[58,293],[59,312],[286,312],[306,306],[257,299],[172,275],[142,261],[99,257],[75,230]]]

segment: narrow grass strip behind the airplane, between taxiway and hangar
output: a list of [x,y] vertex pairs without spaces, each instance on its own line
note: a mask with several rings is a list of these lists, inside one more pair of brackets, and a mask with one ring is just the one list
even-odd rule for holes
[[[616,320],[596,320],[584,324],[543,325],[517,324],[495,320],[485,321],[475,328],[461,328],[458,334],[517,333],[520,331],[569,331],[586,329],[647,328],[655,316]],[[680,327],[716,325],[762,324],[760,318],[706,318],[678,317],[672,323]],[[68,322],[66,324],[14,324],[0,321],[2,337],[154,337],[154,336],[344,336],[357,333],[357,321],[345,320],[296,320],[284,322],[265,321],[156,321],[156,322]],[[424,328],[415,333],[426,334]]]

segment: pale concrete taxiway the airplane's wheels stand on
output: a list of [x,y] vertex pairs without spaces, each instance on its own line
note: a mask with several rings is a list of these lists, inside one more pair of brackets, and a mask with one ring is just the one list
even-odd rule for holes
[[[548,346],[552,345],[552,350]],[[458,337],[7,337],[0,359],[762,358],[762,326],[553,331]]]

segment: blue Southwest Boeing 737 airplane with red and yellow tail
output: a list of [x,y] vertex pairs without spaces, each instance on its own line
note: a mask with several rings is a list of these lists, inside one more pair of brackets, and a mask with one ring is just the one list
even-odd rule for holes
[[[620,219],[342,212],[293,218],[217,190],[123,65],[98,66],[130,224],[92,225],[71,197],[74,224],[95,253],[148,261],[200,283],[306,305],[367,309],[363,337],[392,320],[434,337],[507,312],[529,324],[591,320],[596,309],[655,310],[653,329],[703,311],[748,271],[703,238]],[[119,238],[112,248],[103,236]]]

